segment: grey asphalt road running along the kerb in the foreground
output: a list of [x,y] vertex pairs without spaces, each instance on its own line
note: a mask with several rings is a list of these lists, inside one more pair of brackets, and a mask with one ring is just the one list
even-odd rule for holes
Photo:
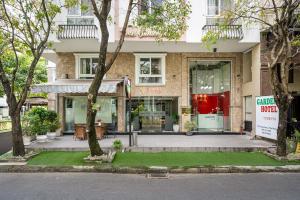
[[2,200],[287,200],[299,199],[300,174],[143,175],[0,174]]

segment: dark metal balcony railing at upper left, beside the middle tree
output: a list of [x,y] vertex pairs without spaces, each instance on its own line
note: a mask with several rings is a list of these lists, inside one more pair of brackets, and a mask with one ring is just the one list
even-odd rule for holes
[[93,39],[97,38],[96,25],[58,25],[58,39]]

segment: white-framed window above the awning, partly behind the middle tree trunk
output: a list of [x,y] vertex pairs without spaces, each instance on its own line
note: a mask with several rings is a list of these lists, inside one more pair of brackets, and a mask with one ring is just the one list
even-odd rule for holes
[[92,79],[99,63],[97,55],[76,54],[76,72],[78,79]]

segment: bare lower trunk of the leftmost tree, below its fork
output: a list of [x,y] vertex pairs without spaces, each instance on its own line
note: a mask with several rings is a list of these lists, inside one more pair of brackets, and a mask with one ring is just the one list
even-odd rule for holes
[[12,125],[13,155],[24,156],[25,148],[24,148],[23,137],[22,137],[20,112],[14,112],[12,115],[10,115],[10,117],[11,117],[11,125]]

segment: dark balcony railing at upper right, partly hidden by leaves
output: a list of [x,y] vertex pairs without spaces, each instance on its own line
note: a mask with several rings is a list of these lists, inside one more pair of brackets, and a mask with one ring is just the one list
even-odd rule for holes
[[204,35],[207,32],[216,33],[219,39],[243,39],[243,29],[241,25],[205,25],[202,30]]

